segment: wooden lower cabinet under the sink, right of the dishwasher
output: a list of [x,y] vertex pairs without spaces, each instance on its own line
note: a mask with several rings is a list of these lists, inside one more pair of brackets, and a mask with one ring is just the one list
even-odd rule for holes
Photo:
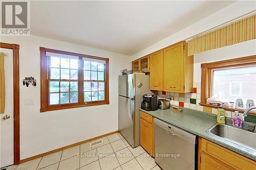
[[199,158],[201,158],[198,164],[199,170],[256,169],[255,161],[204,138],[199,138],[198,146]]

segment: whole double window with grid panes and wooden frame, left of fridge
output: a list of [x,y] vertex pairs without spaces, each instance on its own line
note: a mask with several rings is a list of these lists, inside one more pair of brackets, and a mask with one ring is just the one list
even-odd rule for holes
[[40,111],[109,104],[109,59],[40,47]]

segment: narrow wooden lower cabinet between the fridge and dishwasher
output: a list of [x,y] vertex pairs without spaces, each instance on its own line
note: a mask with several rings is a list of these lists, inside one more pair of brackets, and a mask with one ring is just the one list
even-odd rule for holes
[[154,119],[153,116],[142,111],[140,111],[140,145],[148,154],[154,156]]

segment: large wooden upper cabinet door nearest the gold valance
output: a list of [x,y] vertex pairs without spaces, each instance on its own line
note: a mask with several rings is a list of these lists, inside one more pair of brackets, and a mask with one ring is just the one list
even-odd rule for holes
[[184,42],[163,50],[163,90],[184,92]]

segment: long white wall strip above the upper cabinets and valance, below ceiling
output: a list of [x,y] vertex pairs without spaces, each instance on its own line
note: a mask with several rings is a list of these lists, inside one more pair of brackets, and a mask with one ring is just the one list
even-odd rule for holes
[[[212,29],[216,26],[222,25],[232,19],[240,17],[251,11],[256,10],[256,1],[237,1],[231,5],[211,14],[210,16],[194,23],[193,25],[173,34],[163,40],[145,48],[141,52],[132,56],[131,61],[136,60],[140,57],[146,56],[153,52],[156,52],[166,46],[172,45],[176,42],[185,40],[189,37],[200,34],[204,31]],[[199,13],[200,14],[200,13]],[[189,16],[187,16],[189,19]]]

